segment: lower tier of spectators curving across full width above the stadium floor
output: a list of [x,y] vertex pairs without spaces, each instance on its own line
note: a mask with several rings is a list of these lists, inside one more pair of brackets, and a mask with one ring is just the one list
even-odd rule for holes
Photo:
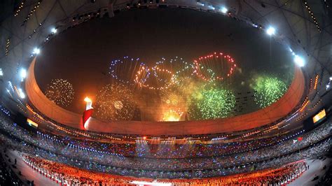
[[[303,134],[302,141],[297,141],[293,143],[291,138],[285,141],[279,141],[276,145],[266,146],[264,148],[258,148],[256,150],[250,150],[247,152],[240,152],[232,155],[214,156],[212,158],[202,157],[202,158],[133,158],[133,157],[123,157],[118,155],[111,155],[110,153],[93,150],[93,148],[82,148],[79,145],[72,145],[72,143],[63,143],[63,141],[58,141],[55,138],[46,138],[44,136],[36,136],[31,132],[20,128],[15,124],[3,124],[9,134],[14,135],[22,140],[27,141],[36,145],[36,147],[44,148],[50,152],[54,152],[60,155],[70,156],[76,159],[93,160],[94,162],[99,162],[102,164],[111,164],[112,166],[124,167],[123,160],[127,162],[125,168],[133,167],[133,165],[138,165],[141,168],[148,167],[146,169],[153,170],[172,170],[172,169],[215,169],[219,167],[235,166],[237,164],[245,164],[246,162],[257,162],[261,159],[268,159],[270,157],[277,157],[279,155],[286,155],[290,152],[298,150],[305,147],[310,143],[316,143],[323,138],[330,135],[332,129],[332,124],[324,124],[314,131],[310,131],[307,134]],[[318,135],[319,134],[319,135]],[[296,138],[297,139],[297,138]],[[190,148],[189,145],[184,145],[184,148]],[[91,150],[92,149],[92,150]],[[173,164],[170,164],[173,162]],[[181,162],[181,166],[179,166]],[[198,162],[198,163],[195,163]],[[205,163],[201,163],[205,162]],[[213,164],[213,167],[211,167]]]

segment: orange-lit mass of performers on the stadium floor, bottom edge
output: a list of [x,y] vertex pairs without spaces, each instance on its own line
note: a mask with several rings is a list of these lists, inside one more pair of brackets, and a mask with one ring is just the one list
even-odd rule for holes
[[[45,159],[25,156],[25,163],[31,166],[39,173],[47,176],[57,183],[64,185],[121,185],[130,184],[134,180],[150,182],[153,180],[143,178],[130,178],[113,176],[105,173],[96,173],[77,169],[66,164],[59,164]],[[158,180],[159,183],[172,183],[172,185],[284,185],[291,183],[307,170],[305,161],[294,162],[275,169],[265,169],[251,173],[240,173],[234,176],[224,176],[209,179],[191,179],[191,180]]]

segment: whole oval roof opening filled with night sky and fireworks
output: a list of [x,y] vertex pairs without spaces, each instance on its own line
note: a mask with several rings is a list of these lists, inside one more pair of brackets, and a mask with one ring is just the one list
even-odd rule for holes
[[[95,117],[104,120],[250,113],[277,101],[292,74],[289,50],[258,29],[179,9],[131,10],[80,24],[47,43],[36,63],[37,83],[49,99],[82,113],[90,96]],[[72,87],[51,94],[60,89],[60,82],[52,84],[56,79]]]

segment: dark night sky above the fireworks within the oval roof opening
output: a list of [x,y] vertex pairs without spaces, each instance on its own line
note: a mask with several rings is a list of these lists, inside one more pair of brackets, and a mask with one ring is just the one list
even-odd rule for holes
[[233,81],[241,92],[247,87],[240,83],[256,73],[289,81],[292,62],[287,50],[263,31],[225,15],[184,9],[128,10],[57,34],[37,58],[36,78],[42,90],[54,78],[69,80],[75,99],[67,109],[81,113],[84,97],[94,99],[97,90],[111,82],[111,60],[125,55],[153,64],[161,57],[179,56],[191,62],[211,52],[226,52],[242,70]]

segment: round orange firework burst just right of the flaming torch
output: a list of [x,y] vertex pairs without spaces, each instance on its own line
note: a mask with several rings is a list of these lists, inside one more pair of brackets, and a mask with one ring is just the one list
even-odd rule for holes
[[131,120],[135,101],[132,91],[121,83],[109,84],[97,93],[97,117],[104,120]]

